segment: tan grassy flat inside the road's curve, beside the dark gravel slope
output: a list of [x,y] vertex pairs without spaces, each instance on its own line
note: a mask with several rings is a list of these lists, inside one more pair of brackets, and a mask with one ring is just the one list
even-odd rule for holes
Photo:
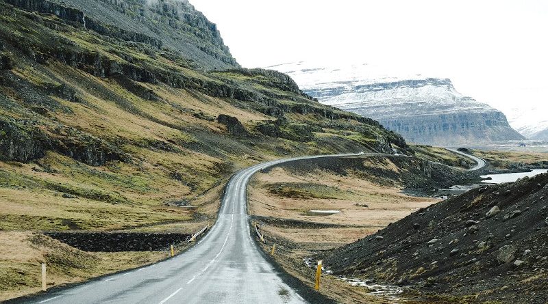
[[[348,167],[332,164],[333,160],[275,167],[257,174],[249,189],[249,212],[266,235],[263,249],[270,252],[275,244],[276,262],[309,286],[314,286],[314,268],[306,266],[303,259],[371,235],[437,201],[401,193],[407,185],[399,174],[404,170],[397,158],[343,161]],[[409,165],[412,160],[402,162]],[[396,178],[388,182],[385,176],[369,173],[379,168],[393,171]],[[340,213],[321,215],[309,210]],[[321,292],[339,303],[390,301],[334,276],[324,275],[322,280]]]

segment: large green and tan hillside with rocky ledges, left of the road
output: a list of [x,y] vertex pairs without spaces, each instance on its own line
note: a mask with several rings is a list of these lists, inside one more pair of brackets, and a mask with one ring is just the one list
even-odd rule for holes
[[[407,149],[399,135],[314,102],[279,72],[203,71],[216,57],[202,62],[184,43],[229,53],[201,14],[184,13],[188,3],[8,2],[15,6],[0,2],[0,229],[211,219],[216,201],[206,194],[239,167]],[[177,35],[195,40],[171,45]],[[191,212],[173,202],[208,206]]]

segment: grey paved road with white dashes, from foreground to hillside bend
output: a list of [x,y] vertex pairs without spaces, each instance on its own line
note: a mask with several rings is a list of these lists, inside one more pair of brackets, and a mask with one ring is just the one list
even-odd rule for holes
[[[338,154],[332,156],[394,156]],[[271,161],[235,174],[227,184],[219,219],[195,247],[175,258],[49,292],[29,303],[307,303],[306,288],[288,286],[252,240],[247,183],[260,169],[308,156]],[[308,290],[310,292],[310,290]],[[300,293],[300,294],[299,294]]]

